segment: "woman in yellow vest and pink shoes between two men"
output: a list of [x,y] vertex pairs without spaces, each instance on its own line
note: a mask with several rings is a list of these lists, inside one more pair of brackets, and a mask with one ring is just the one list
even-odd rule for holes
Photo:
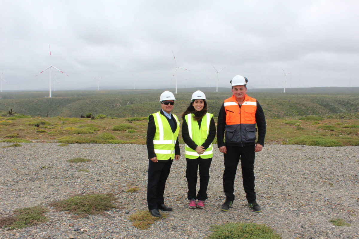
[[[213,114],[207,113],[206,96],[202,91],[192,95],[191,103],[182,114],[182,138],[187,161],[187,198],[190,208],[204,208],[209,182],[209,167],[213,157],[212,142],[216,135]],[[196,195],[197,171],[200,169],[200,190]],[[197,202],[198,199],[198,202]]]

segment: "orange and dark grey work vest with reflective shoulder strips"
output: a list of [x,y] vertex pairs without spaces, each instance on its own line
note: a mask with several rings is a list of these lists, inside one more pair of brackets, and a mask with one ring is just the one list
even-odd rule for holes
[[225,118],[225,142],[226,143],[250,143],[256,141],[256,111],[257,100],[244,96],[244,101],[239,107],[236,97],[224,100]]

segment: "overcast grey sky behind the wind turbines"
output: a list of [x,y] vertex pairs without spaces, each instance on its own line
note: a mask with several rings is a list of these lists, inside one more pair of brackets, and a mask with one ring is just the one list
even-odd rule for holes
[[[3,90],[359,86],[359,1],[0,1]],[[51,56],[49,54],[51,45]]]

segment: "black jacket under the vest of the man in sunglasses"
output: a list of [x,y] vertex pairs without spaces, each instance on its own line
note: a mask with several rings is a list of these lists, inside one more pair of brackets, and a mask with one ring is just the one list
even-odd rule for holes
[[[162,110],[160,110],[160,114],[164,115]],[[174,133],[177,129],[176,119],[174,119],[174,116],[172,114],[171,114],[171,119],[168,119],[166,116],[165,116],[165,118],[168,120],[168,123],[170,125],[171,125],[171,123],[169,122],[170,120],[172,120],[174,122],[174,129],[172,129],[172,133]],[[146,145],[147,145],[147,152],[148,152],[149,159],[157,157],[157,155],[155,154],[155,148],[153,145],[153,138],[155,137],[155,133],[156,133],[155,120],[154,120],[153,115],[150,115],[148,117],[147,138],[146,138]],[[181,155],[180,143],[178,142],[178,137],[176,140],[176,144],[174,145],[174,154]]]

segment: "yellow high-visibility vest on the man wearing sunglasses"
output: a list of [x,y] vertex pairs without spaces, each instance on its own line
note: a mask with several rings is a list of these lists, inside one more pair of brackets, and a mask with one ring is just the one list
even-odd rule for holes
[[156,133],[153,137],[153,146],[157,159],[173,159],[174,145],[176,144],[178,132],[180,132],[180,121],[178,121],[176,115],[172,114],[172,116],[174,117],[174,119],[176,119],[177,122],[176,131],[172,133],[171,126],[169,125],[166,116],[162,115],[159,111],[152,115],[156,125]]

